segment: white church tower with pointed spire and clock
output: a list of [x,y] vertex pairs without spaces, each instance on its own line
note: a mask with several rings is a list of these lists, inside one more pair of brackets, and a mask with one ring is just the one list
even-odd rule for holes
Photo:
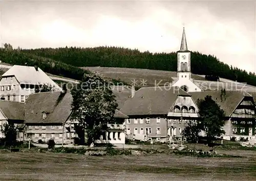
[[201,92],[201,89],[193,82],[190,69],[191,52],[187,50],[185,28],[183,28],[180,50],[177,52],[177,80],[172,86],[179,86],[186,92]]

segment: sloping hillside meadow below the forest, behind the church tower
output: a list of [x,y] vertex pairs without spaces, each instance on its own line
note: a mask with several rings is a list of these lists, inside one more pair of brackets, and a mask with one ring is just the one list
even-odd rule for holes
[[[127,69],[119,67],[83,67],[83,69],[90,70],[92,72],[98,72],[106,77],[113,79],[119,79],[121,81],[132,84],[132,81],[137,81],[137,85],[140,87],[146,86],[164,86],[165,83],[172,83],[173,78],[177,77],[177,72],[170,71],[158,71],[158,70],[147,70],[147,69]],[[214,82],[207,81],[203,76],[192,74],[191,77],[194,82],[203,90],[216,90],[225,88],[226,90],[247,90],[248,92],[256,92],[256,87],[251,85],[237,84],[234,81],[227,82]],[[146,80],[145,84],[142,85],[142,81]],[[167,84],[169,85],[169,84]]]

